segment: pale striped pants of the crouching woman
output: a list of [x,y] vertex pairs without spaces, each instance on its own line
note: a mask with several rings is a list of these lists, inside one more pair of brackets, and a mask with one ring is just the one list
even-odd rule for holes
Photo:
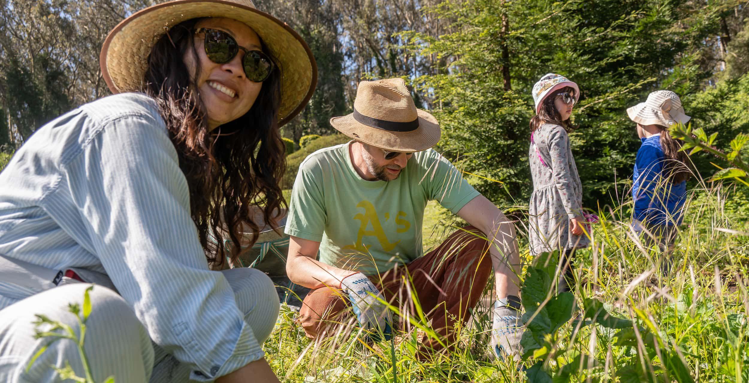
[[[256,269],[231,269],[222,273],[234,290],[237,306],[245,313],[246,322],[252,325],[258,342],[263,343],[276,325],[279,313],[279,298],[273,282]],[[0,310],[0,382],[63,382],[52,366],[64,367],[66,361],[76,375],[85,376],[77,346],[71,340],[52,343],[28,371],[26,368],[51,339],[34,339],[34,314],[64,322],[79,334],[78,322],[68,311],[68,304],[78,302],[82,307],[83,292],[89,286],[55,287]],[[121,296],[98,286],[90,296],[92,311],[86,325],[84,349],[95,382],[104,382],[109,376],[115,376],[117,383],[189,382],[187,364],[151,341],[133,309]]]

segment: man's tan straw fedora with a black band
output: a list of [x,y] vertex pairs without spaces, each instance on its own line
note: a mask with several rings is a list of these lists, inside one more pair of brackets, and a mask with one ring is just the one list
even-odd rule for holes
[[385,150],[414,153],[440,141],[440,125],[416,108],[403,79],[363,81],[354,112],[333,117],[330,125],[357,141]]

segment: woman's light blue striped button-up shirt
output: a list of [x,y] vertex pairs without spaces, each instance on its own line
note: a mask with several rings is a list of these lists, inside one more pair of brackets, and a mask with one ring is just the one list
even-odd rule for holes
[[[34,132],[0,173],[0,254],[108,275],[192,379],[264,356],[228,282],[208,269],[177,151],[144,94],[99,99]],[[0,309],[32,293],[0,281]]]

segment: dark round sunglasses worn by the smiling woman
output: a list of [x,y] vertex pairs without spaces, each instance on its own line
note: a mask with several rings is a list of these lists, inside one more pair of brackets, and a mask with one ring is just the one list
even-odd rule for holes
[[251,82],[264,82],[273,72],[273,61],[262,51],[249,51],[237,44],[237,40],[225,31],[210,28],[197,28],[195,34],[205,34],[205,55],[216,64],[226,64],[234,57],[240,49],[244,51],[242,67],[244,75]]

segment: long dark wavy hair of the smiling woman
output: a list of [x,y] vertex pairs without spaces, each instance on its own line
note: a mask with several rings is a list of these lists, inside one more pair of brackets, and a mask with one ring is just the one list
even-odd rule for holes
[[[210,266],[220,268],[227,255],[236,264],[240,252],[239,246],[232,246],[231,254],[226,254],[222,239],[240,243],[240,230],[249,229],[249,245],[257,240],[259,222],[252,219],[253,206],[262,206],[268,226],[287,206],[278,183],[285,171],[278,124],[281,76],[276,65],[252,108],[211,132],[198,87],[183,61],[186,52],[192,52],[195,63],[200,63],[193,32],[199,20],[181,22],[157,40],[148,56],[144,84],[145,93],[156,99],[177,149],[205,256]],[[195,79],[199,65],[196,70]]]

